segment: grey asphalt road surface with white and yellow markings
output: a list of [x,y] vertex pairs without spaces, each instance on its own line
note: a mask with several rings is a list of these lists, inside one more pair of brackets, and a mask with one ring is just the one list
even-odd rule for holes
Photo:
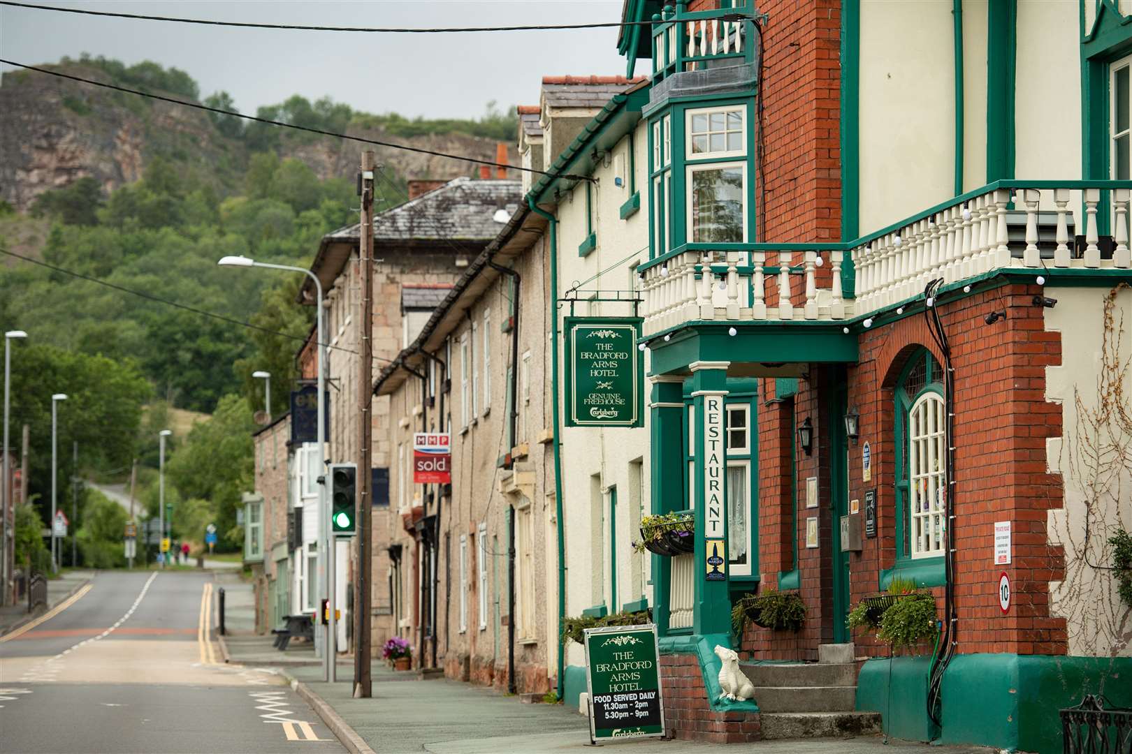
[[0,636],[0,752],[343,752],[281,676],[218,659],[214,591],[103,572]]

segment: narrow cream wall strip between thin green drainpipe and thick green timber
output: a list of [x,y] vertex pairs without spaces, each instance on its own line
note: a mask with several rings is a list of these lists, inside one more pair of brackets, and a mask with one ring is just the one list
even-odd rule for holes
[[987,1],[963,2],[963,191],[987,182]]

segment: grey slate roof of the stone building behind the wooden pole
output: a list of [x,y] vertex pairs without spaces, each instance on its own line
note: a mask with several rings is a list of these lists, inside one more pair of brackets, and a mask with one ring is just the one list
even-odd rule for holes
[[[375,241],[480,240],[489,241],[503,229],[495,220],[498,209],[513,215],[523,198],[522,181],[457,177],[387,209],[374,217]],[[359,224],[324,236],[323,243],[359,237]]]

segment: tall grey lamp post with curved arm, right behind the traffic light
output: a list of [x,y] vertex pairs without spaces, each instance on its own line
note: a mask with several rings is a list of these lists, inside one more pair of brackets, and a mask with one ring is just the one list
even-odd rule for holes
[[[249,257],[224,257],[217,265],[223,267],[265,267],[273,270],[286,270],[289,272],[301,272],[309,277],[315,283],[315,294],[316,294],[316,326],[315,333],[318,339],[318,409],[317,418],[317,444],[318,444],[318,512],[319,519],[321,520],[323,537],[321,543],[318,547],[319,557],[323,560],[326,569],[326,581],[323,584],[326,595],[326,609],[329,614],[327,616],[326,626],[326,643],[325,651],[323,652],[323,676],[327,683],[335,681],[334,673],[334,631],[335,623],[334,619],[334,527],[331,522],[331,506],[326,501],[326,480],[324,475],[326,474],[326,417],[324,413],[326,410],[325,396],[326,396],[326,335],[323,332],[323,284],[318,279],[318,276],[308,269],[302,267],[291,267],[289,265],[271,265],[268,262],[257,262]],[[321,603],[319,603],[320,605]]]

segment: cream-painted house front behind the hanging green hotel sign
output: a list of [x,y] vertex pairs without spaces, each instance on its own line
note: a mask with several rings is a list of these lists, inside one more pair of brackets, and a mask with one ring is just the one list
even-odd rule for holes
[[[584,283],[581,287],[586,292],[600,289],[602,296],[615,295],[612,292],[621,291],[623,296],[631,285],[632,265],[644,261],[649,258],[649,210],[645,200],[642,200],[641,210],[628,219],[620,218],[620,206],[629,198],[627,175],[621,175],[626,185],[618,188],[614,185],[614,177],[617,174],[617,166],[628,165],[627,149],[628,137],[623,138],[612,150],[611,157],[594,171],[593,175],[598,183],[593,187],[594,229],[598,234],[598,246],[588,257],[580,258],[577,246],[585,237],[585,187],[580,185],[572,192],[573,198],[564,198],[557,208],[559,218],[559,270],[558,279],[561,291],[559,295],[575,281],[586,280],[592,276],[598,276],[593,280]],[[635,162],[636,162],[636,189],[645,193],[648,187],[648,133],[644,121],[642,121],[634,135]],[[618,157],[625,156],[623,159]],[[607,268],[611,268],[608,269]],[[606,270],[606,271],[602,271]],[[600,275],[598,275],[601,272]],[[578,296],[584,301],[589,293]],[[563,306],[559,310],[560,317],[569,314],[569,307]],[[576,315],[604,315],[626,317],[632,314],[628,304],[617,303],[582,303],[575,307]],[[549,358],[549,354],[548,354]],[[565,365],[565,353],[563,353],[561,364]],[[648,359],[645,362],[648,370]],[[547,374],[550,373],[549,364]],[[648,383],[645,384],[648,390]],[[648,395],[645,396],[648,404]],[[563,404],[563,416],[565,416],[565,404]],[[604,600],[610,612],[617,612],[625,603],[641,598],[641,593],[631,593],[632,584],[643,583],[651,577],[634,580],[634,569],[648,569],[648,560],[642,555],[635,555],[629,546],[634,539],[640,538],[640,532],[631,528],[631,506],[633,504],[634,491],[638,487],[636,482],[631,482],[631,474],[637,471],[638,467],[633,466],[634,461],[641,461],[640,471],[643,484],[640,484],[640,500],[648,514],[651,510],[650,484],[649,484],[649,411],[645,410],[645,426],[634,430],[628,428],[593,428],[593,427],[563,427],[563,483],[565,493],[564,517],[566,525],[566,613],[567,615],[578,615],[582,610],[594,606],[593,579],[598,575],[597,569],[609,567],[609,539],[608,532],[598,527],[604,528],[601,521],[594,525],[591,518],[591,491],[590,479],[593,475],[600,478],[602,494],[602,506],[608,514],[608,489],[611,486],[617,488],[617,604],[609,605],[608,573],[604,575],[607,584]],[[606,551],[595,558],[593,543],[600,539]],[[648,572],[646,572],[648,573]],[[651,587],[645,587],[645,596],[649,597],[650,605],[653,604]],[[573,642],[567,648],[567,662],[582,665],[584,656],[582,648]]]

